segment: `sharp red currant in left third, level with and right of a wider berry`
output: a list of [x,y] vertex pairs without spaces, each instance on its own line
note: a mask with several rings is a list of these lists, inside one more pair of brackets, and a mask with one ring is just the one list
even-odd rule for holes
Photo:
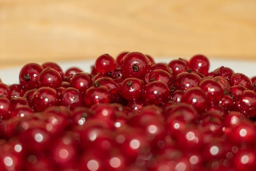
[[68,87],[61,92],[60,105],[75,109],[83,105],[82,96],[77,88]]

